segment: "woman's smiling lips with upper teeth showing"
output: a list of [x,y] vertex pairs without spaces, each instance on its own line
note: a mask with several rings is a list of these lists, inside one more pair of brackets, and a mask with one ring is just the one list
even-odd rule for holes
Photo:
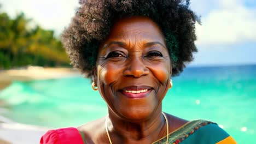
[[138,99],[147,97],[151,90],[152,88],[148,86],[131,86],[123,88],[121,93],[127,98]]

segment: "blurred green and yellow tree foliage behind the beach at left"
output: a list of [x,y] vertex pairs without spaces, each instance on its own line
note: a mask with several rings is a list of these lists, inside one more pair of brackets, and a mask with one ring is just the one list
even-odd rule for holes
[[23,13],[10,19],[7,13],[0,12],[0,69],[68,66],[69,59],[54,31],[39,26],[28,28],[29,23]]

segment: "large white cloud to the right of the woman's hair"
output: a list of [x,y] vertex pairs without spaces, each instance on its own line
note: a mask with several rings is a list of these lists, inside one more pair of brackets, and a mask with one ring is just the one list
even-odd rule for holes
[[219,0],[219,7],[202,26],[196,25],[197,44],[234,44],[256,41],[256,9],[243,6],[241,1]]

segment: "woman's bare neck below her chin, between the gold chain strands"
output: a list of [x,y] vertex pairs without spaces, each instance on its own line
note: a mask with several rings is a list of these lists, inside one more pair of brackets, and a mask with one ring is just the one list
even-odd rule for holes
[[141,121],[127,121],[109,110],[107,125],[113,143],[152,143],[166,136],[166,122],[161,106],[152,116]]

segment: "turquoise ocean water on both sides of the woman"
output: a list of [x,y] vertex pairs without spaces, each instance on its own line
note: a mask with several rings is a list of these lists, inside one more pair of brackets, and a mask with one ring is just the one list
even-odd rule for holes
[[[238,143],[256,143],[256,65],[188,67],[172,81],[163,111],[216,122]],[[0,115],[51,128],[77,127],[107,113],[83,76],[15,81],[0,92],[0,100]]]

